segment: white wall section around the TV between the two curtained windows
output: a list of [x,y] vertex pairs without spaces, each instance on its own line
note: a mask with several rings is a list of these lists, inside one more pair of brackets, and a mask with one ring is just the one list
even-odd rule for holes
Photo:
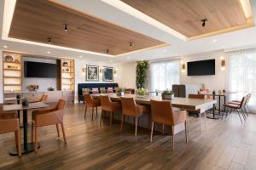
[[[206,54],[193,54],[181,57],[183,63],[186,63],[186,71],[181,72],[181,84],[205,84],[205,88],[214,89],[216,91],[223,90],[225,88],[225,73],[226,71],[221,70],[220,57],[224,56],[224,51],[215,51]],[[204,59],[215,59],[215,75],[213,76],[187,76],[187,62],[204,60]],[[226,65],[228,63],[226,62]]]

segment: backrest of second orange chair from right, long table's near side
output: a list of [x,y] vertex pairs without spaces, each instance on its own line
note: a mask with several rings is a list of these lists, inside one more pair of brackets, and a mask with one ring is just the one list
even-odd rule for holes
[[136,102],[133,98],[121,98],[123,114],[127,116],[137,116]]

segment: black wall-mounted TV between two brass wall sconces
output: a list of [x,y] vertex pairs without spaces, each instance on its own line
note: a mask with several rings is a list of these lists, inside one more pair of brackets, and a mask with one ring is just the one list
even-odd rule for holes
[[188,76],[215,75],[215,59],[188,62]]

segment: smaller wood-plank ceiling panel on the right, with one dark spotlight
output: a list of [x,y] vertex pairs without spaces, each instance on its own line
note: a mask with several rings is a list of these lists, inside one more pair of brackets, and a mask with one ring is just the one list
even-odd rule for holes
[[[121,0],[186,37],[247,24],[239,0]],[[207,19],[205,27],[201,20]]]

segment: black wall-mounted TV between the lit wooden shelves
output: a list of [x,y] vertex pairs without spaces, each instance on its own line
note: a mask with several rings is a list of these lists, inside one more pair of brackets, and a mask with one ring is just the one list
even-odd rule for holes
[[24,61],[24,68],[25,77],[57,77],[57,65],[55,64]]

